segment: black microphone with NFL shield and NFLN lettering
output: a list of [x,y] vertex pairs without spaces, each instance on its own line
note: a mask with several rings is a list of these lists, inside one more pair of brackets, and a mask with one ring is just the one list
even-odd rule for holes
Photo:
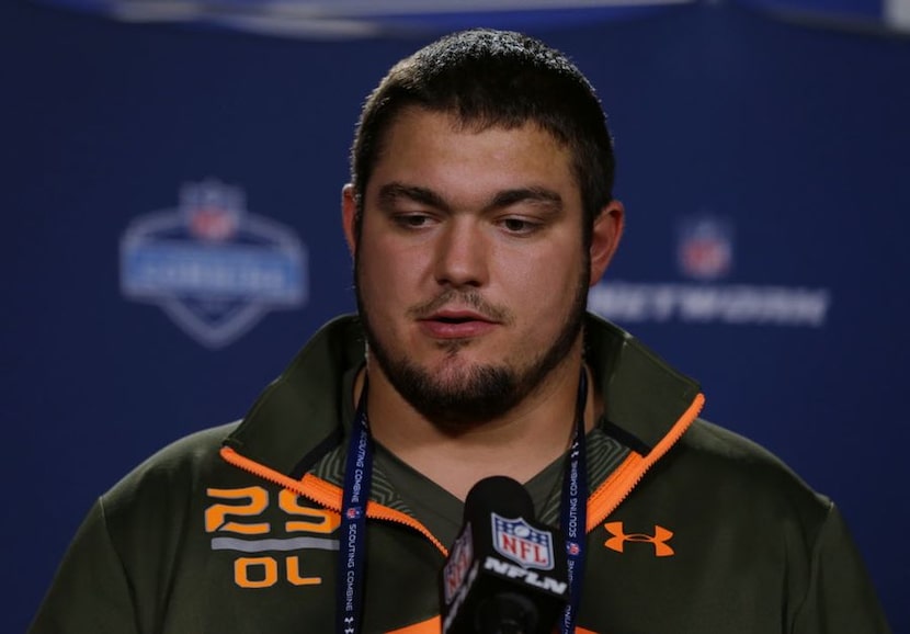
[[549,634],[569,600],[565,540],[522,485],[478,482],[442,570],[443,634]]

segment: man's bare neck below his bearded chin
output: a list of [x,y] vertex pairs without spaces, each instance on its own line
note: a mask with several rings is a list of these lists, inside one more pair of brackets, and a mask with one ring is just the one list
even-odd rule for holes
[[[571,443],[581,367],[579,343],[527,398],[503,416],[453,431],[418,412],[378,365],[369,363],[371,431],[399,460],[462,500],[478,480],[490,475],[525,483]],[[355,383],[355,399],[363,384],[364,371]],[[590,372],[588,385],[585,430],[593,427],[602,409]]]

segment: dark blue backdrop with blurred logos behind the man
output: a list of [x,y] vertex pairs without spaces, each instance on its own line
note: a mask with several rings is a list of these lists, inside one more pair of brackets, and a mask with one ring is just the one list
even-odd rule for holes
[[608,113],[628,224],[590,308],[835,500],[910,632],[910,2],[374,4],[0,4],[0,631],[96,496],[353,309],[360,106],[482,25],[570,54]]

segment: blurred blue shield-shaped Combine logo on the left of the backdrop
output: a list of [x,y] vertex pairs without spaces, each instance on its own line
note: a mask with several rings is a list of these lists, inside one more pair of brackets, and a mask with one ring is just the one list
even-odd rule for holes
[[266,313],[304,305],[306,247],[246,210],[242,190],[187,183],[180,206],[136,218],[121,238],[121,291],[160,306],[209,348],[235,341]]

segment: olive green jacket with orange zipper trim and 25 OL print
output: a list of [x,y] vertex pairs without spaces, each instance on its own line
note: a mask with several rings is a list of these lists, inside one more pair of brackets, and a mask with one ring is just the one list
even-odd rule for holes
[[[615,326],[589,316],[587,347],[605,414],[588,443],[579,633],[888,632],[828,499],[698,419],[698,386]],[[333,632],[363,354],[356,318],[335,319],[241,422],[175,442],[101,496],[32,634]],[[439,633],[448,544],[378,468],[371,500],[366,631]]]

